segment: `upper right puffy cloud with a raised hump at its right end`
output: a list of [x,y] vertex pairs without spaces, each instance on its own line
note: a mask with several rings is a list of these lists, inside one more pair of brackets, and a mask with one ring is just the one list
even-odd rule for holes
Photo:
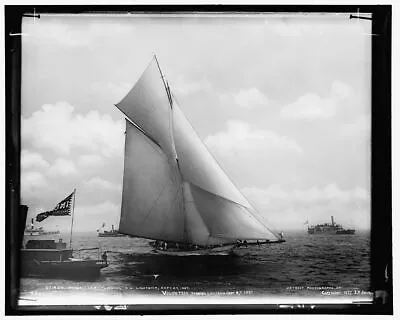
[[321,98],[315,93],[306,93],[295,102],[282,108],[281,116],[292,119],[328,119],[334,117],[343,102],[351,99],[353,90],[345,83],[335,81],[332,83],[331,93],[326,98]]

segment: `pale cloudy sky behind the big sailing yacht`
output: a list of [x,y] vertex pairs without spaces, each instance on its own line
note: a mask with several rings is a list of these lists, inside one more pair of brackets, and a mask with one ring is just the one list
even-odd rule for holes
[[77,188],[74,230],[117,225],[125,123],[114,104],[155,53],[200,138],[272,226],[334,215],[369,228],[370,21],[41,15],[22,30],[29,218]]

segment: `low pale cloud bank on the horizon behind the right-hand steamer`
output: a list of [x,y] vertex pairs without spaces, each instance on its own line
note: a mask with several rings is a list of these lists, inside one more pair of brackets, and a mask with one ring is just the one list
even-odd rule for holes
[[310,223],[329,222],[333,215],[340,223],[369,228],[370,193],[361,187],[341,189],[335,183],[325,187],[283,189],[248,187],[243,194],[255,208],[275,226],[299,229],[305,220]]

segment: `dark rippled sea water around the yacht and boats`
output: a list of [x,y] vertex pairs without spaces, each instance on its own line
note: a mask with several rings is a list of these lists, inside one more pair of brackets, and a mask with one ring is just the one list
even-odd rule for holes
[[[20,305],[163,303],[205,296],[372,300],[368,232],[288,232],[285,238],[284,243],[249,247],[233,256],[171,257],[152,253],[148,240],[76,233],[74,249],[100,247],[101,251],[77,251],[74,257],[99,259],[102,251],[108,251],[110,265],[102,269],[101,277],[95,281],[22,278]],[[68,242],[68,236],[63,239]]]

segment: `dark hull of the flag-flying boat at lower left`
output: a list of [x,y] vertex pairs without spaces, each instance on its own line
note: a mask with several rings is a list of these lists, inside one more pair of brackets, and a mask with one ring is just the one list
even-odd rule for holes
[[23,277],[93,280],[108,264],[102,260],[29,261],[22,266]]

